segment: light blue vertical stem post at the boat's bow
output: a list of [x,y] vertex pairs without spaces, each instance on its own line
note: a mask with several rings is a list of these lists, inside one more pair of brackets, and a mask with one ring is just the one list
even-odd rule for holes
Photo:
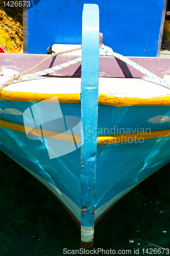
[[[81,79],[81,246],[93,243],[98,132],[99,7],[85,4]],[[84,143],[83,143],[84,140]]]

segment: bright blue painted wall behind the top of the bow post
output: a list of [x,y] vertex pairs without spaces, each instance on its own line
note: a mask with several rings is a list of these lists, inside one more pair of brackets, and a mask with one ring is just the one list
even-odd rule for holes
[[[164,0],[166,1],[166,0]],[[163,0],[41,0],[28,10],[28,53],[81,44],[83,4],[98,4],[103,43],[126,56],[156,56]]]

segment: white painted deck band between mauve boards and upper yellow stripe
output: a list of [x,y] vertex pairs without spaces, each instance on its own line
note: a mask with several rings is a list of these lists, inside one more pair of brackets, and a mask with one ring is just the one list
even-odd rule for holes
[[[0,82],[9,77],[1,77]],[[2,94],[8,92],[41,93],[41,94],[80,94],[81,78],[39,77],[6,86]],[[170,90],[161,86],[152,78],[99,78],[99,95],[114,97],[155,98],[169,96]]]

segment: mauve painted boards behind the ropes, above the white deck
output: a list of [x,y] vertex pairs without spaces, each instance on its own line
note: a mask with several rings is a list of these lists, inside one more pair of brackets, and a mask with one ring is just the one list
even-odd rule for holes
[[[23,72],[33,67],[46,57],[46,54],[0,53],[0,69],[2,70],[3,68],[11,68],[17,70],[18,72]],[[47,60],[45,63],[36,68],[31,73],[61,65],[64,62],[70,61],[78,57],[79,56],[58,55],[57,57],[53,57],[50,60]],[[165,74],[170,75],[170,58],[129,57],[129,59],[161,78],[163,78]],[[51,75],[80,76],[81,65],[80,63],[76,63],[73,66],[69,66],[62,70],[51,73]],[[100,56],[99,76],[141,78],[144,75],[117,58],[114,58],[112,56]]]

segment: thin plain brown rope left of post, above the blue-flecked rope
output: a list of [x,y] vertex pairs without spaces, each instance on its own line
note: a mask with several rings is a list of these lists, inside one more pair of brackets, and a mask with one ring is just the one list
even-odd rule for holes
[[32,70],[36,69],[37,67],[39,67],[41,64],[43,64],[43,63],[44,63],[45,61],[47,61],[48,59],[51,59],[51,58],[53,58],[54,56],[57,56],[57,55],[59,55],[59,54],[63,54],[63,53],[67,53],[67,52],[74,52],[74,51],[77,51],[77,50],[80,50],[80,49],[82,49],[82,46],[81,46],[81,47],[78,47],[78,48],[75,48],[75,49],[71,49],[71,50],[66,50],[66,51],[62,51],[62,52],[57,52],[57,53],[54,53],[54,54],[48,56],[47,58],[41,60],[37,65],[35,65],[35,66],[32,67],[31,69],[28,69],[28,70],[26,70],[26,71],[24,71],[24,72],[22,72],[22,73],[20,73],[20,74],[18,74],[18,75],[14,75],[14,76],[11,77],[9,80],[7,80],[7,81],[4,82],[3,84],[1,84],[0,93],[1,93],[2,89],[3,89],[5,86],[7,86],[7,84],[11,83],[11,82],[12,82],[13,80],[15,80],[15,79],[18,79],[20,76],[25,75],[25,74],[31,72]]

